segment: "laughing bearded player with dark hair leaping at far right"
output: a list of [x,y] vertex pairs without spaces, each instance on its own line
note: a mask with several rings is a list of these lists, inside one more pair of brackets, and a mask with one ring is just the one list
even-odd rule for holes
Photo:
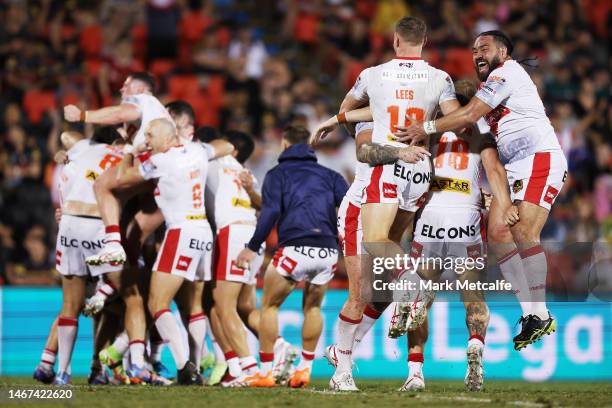
[[[537,88],[525,69],[512,59],[512,49],[512,42],[503,32],[481,33],[472,53],[483,83],[470,103],[438,120],[413,124],[400,132],[400,137],[415,142],[431,133],[473,125],[483,117],[491,127],[513,201],[506,208],[497,208],[500,203],[494,201],[491,223],[496,230],[503,230],[504,221],[512,226],[516,243],[503,239],[505,245],[497,246],[496,252],[502,273],[513,284],[523,311],[522,330],[514,338],[515,349],[520,350],[556,329],[546,307],[547,264],[540,233],[563,187],[567,161]],[[531,302],[524,301],[526,294]]]

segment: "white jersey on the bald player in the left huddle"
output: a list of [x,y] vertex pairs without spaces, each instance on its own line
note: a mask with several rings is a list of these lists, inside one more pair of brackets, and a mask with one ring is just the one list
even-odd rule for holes
[[204,181],[208,171],[208,153],[202,145],[187,143],[171,147],[166,152],[152,155],[141,166],[145,172],[151,171],[150,178],[158,179],[155,201],[168,226],[186,221],[206,222]]

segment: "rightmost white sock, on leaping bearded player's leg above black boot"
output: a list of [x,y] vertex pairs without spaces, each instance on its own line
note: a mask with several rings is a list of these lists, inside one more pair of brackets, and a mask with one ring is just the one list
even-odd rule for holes
[[521,251],[521,258],[529,283],[531,295],[531,313],[540,319],[548,319],[548,308],[546,307],[546,274],[548,264],[546,254],[542,245],[536,245]]

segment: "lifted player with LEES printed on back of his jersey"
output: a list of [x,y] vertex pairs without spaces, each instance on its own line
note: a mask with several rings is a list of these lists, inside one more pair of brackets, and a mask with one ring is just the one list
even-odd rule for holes
[[[345,98],[343,104],[349,105],[349,109],[369,102],[374,120],[373,145],[395,146],[399,149],[403,144],[398,143],[394,136],[398,125],[431,118],[438,107],[445,114],[458,107],[448,74],[429,66],[421,58],[425,31],[426,26],[422,20],[415,17],[402,18],[394,33],[396,57],[364,70]],[[346,119],[341,114],[337,122]],[[365,117],[361,120],[371,119]],[[329,125],[333,125],[333,122],[324,123],[317,133],[327,131]],[[367,168],[366,174],[356,176],[367,180],[367,187],[363,191],[361,222],[364,245],[374,257],[404,256],[403,249],[389,238],[391,226],[399,208],[416,211],[418,201],[429,189],[431,180],[429,160],[422,156],[415,164],[403,161],[389,163]],[[419,284],[418,274],[409,275],[410,279]],[[416,308],[411,308],[411,316],[415,324],[418,324],[426,316],[425,305],[431,294],[423,293],[425,297],[418,296],[418,293],[411,295],[416,295],[415,299],[425,300],[417,302]],[[350,372],[350,354],[347,354],[353,348],[355,329],[363,315],[364,305],[356,300],[358,298],[349,295],[340,314],[339,350],[340,354],[349,355],[349,358],[341,358],[336,374],[330,381],[334,389],[356,389]]]

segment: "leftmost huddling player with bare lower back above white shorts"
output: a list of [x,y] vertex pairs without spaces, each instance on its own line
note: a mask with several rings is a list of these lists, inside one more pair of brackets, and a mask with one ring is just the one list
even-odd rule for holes
[[[64,136],[66,134],[62,135],[62,141]],[[63,289],[62,310],[57,323],[58,373],[54,380],[57,385],[70,384],[70,360],[78,315],[85,300],[87,276],[106,275],[118,285],[122,269],[121,265],[88,267],[85,264],[85,258],[101,248],[104,239],[104,224],[98,212],[93,183],[100,174],[121,161],[122,152],[106,143],[82,139],[68,149],[67,156],[69,162],[63,168],[60,181],[62,217],[55,251]]]

